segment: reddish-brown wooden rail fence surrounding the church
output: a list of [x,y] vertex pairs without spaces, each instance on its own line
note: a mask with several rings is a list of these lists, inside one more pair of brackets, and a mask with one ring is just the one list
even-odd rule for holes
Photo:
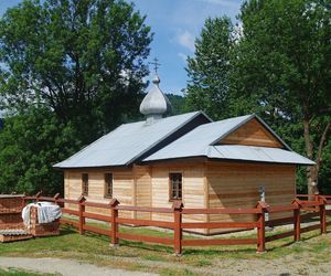
[[[120,205],[116,199],[113,199],[108,204],[88,202],[84,197],[78,200],[60,199],[58,194],[54,198],[41,197],[36,194],[34,197],[23,198],[24,204],[28,201],[51,201],[62,205],[62,212],[70,215],[75,215],[77,221],[61,219],[62,224],[68,224],[76,229],[81,235],[84,235],[85,231],[107,235],[110,237],[110,243],[114,246],[119,245],[119,240],[138,241],[147,243],[158,243],[164,245],[171,245],[174,248],[177,255],[181,255],[183,246],[203,246],[203,245],[247,245],[255,244],[257,252],[266,251],[266,243],[293,236],[293,241],[300,241],[301,233],[314,231],[320,229],[321,234],[327,233],[327,226],[331,225],[331,222],[327,221],[327,215],[331,214],[331,210],[327,210],[327,205],[331,204],[331,195],[316,195],[314,200],[300,200],[301,198],[308,198],[307,194],[298,194],[298,197],[287,205],[274,205],[270,206],[266,202],[258,202],[255,208],[252,209],[189,209],[184,208],[181,201],[173,202],[172,208],[142,208],[142,206],[129,206]],[[64,208],[64,203],[76,204],[77,211]],[[104,214],[96,214],[86,212],[85,208],[97,208],[104,210]],[[156,220],[140,220],[121,217],[118,211],[137,211],[137,212],[150,212],[172,214],[173,220],[156,221]],[[266,214],[291,212],[291,215],[266,220]],[[255,214],[256,220],[253,222],[183,222],[182,216],[185,214],[237,214],[247,215]],[[86,219],[93,219],[96,221],[108,222],[110,226],[108,230],[99,229],[96,226],[87,225]],[[311,222],[309,226],[302,227],[302,223]],[[173,237],[157,237],[149,235],[138,235],[119,232],[119,225],[132,225],[132,226],[157,226],[162,229],[173,230]],[[266,236],[266,226],[280,226],[280,225],[293,225],[290,231],[277,233]],[[256,229],[255,238],[184,238],[183,231],[196,229]]]

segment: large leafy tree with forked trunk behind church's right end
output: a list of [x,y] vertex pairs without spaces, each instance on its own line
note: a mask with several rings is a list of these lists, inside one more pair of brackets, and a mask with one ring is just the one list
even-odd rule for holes
[[269,117],[299,124],[312,194],[331,128],[331,10],[319,0],[250,0],[233,75],[238,94]]

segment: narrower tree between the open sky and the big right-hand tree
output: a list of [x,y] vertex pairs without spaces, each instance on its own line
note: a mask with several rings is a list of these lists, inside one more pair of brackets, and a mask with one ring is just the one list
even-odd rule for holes
[[234,26],[226,17],[209,18],[200,36],[195,40],[194,57],[188,57],[189,109],[202,109],[215,119],[228,117]]

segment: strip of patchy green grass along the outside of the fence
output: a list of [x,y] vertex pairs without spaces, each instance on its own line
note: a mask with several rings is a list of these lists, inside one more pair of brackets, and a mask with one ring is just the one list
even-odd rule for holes
[[[131,234],[172,236],[172,233],[150,229],[122,227],[121,231]],[[302,234],[301,241],[292,243],[292,237],[288,237],[267,243],[265,254],[256,254],[255,245],[184,247],[183,256],[175,257],[172,247],[127,241],[120,241],[119,247],[113,247],[109,246],[109,238],[106,236],[90,233],[81,236],[72,227],[63,226],[60,236],[0,244],[0,256],[72,258],[161,275],[207,275],[211,267],[217,269],[217,266],[238,259],[268,262],[290,256],[293,259],[302,258],[311,265],[330,262],[331,234],[319,235],[319,231],[313,231]]]

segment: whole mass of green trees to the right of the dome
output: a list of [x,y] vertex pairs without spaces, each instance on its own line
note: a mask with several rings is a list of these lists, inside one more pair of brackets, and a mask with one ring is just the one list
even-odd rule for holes
[[[325,161],[330,160],[331,9],[325,2],[245,1],[238,15],[242,31],[226,29],[231,23],[224,18],[214,19],[223,24],[213,28],[207,20],[188,66],[191,107],[200,103],[213,118],[256,113],[293,150],[317,162],[308,169],[306,180],[305,171],[299,171],[300,190],[307,180],[310,184],[317,180],[319,170],[320,185],[330,185]],[[227,43],[226,38],[237,40]],[[215,49],[225,50],[216,61],[227,63],[205,62],[212,60]],[[225,92],[221,100],[214,99],[218,92]]]

